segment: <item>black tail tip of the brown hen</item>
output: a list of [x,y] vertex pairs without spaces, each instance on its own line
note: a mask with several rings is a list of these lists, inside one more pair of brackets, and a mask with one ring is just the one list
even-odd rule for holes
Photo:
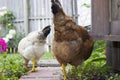
[[51,7],[52,13],[55,15],[59,12],[59,10],[62,9],[62,6],[59,0],[51,0],[51,2],[52,2],[52,7]]

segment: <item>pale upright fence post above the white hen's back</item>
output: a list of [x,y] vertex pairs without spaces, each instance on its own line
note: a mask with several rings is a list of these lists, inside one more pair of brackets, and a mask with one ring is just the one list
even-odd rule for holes
[[29,32],[29,15],[28,15],[28,2],[29,0],[24,0],[24,29],[25,29],[25,35]]

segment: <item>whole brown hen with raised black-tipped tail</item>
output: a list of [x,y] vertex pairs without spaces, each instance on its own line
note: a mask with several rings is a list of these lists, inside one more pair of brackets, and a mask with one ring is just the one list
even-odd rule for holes
[[88,59],[93,49],[93,40],[85,28],[78,26],[72,17],[64,13],[59,0],[51,2],[55,30],[52,52],[62,65],[64,80],[67,80],[65,66],[78,66]]

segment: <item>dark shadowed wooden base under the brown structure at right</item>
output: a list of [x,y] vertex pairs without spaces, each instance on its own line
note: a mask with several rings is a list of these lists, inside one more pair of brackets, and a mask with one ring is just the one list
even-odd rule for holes
[[120,71],[120,42],[107,42],[107,63]]

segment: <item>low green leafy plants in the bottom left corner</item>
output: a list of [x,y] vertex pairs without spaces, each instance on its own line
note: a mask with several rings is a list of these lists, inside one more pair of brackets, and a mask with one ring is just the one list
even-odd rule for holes
[[16,55],[0,55],[0,80],[18,80],[26,74],[22,58]]

